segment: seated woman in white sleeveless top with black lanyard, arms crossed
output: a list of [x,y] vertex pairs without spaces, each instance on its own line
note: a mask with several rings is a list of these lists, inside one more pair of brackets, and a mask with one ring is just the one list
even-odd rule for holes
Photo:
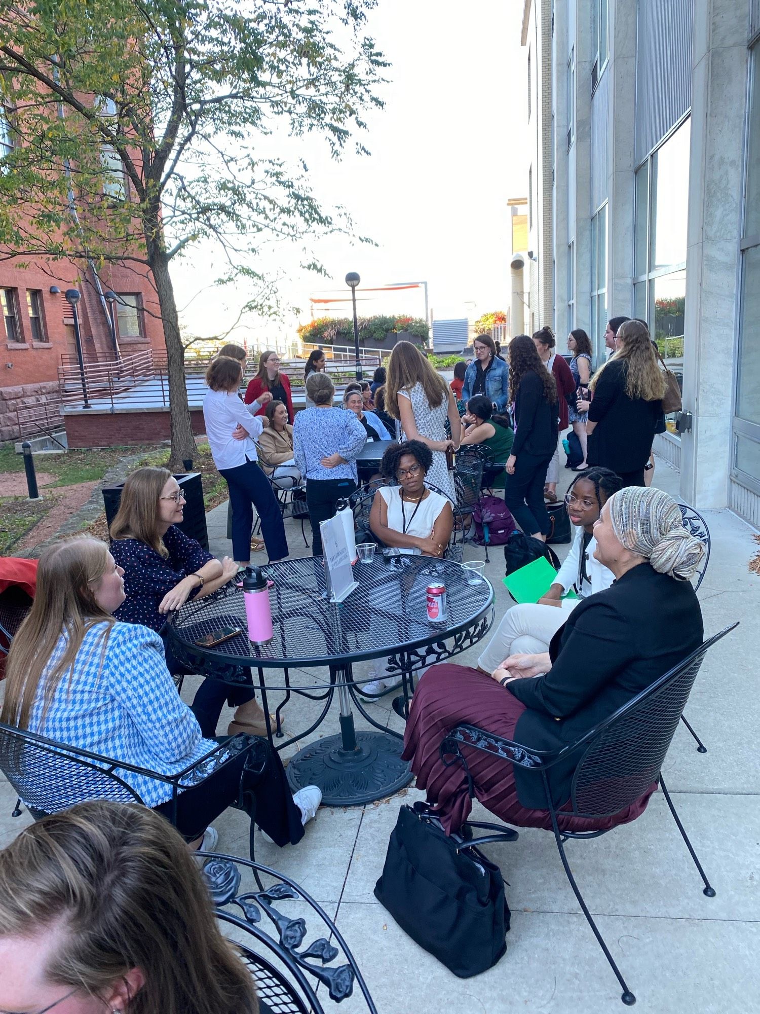
[[451,502],[425,485],[432,463],[433,452],[421,440],[393,443],[383,454],[383,477],[399,483],[381,486],[372,502],[370,528],[385,546],[425,557],[446,552],[454,514]]

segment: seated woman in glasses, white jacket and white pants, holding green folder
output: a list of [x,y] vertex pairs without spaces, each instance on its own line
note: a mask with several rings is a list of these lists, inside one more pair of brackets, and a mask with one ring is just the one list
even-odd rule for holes
[[[505,658],[514,654],[537,654],[549,650],[552,637],[569,612],[584,598],[609,588],[615,575],[594,556],[594,523],[602,507],[622,487],[619,476],[609,468],[588,468],[571,485],[564,501],[576,525],[573,546],[546,594],[534,604],[513,605],[492,635],[478,667],[490,674]],[[573,589],[578,598],[563,598]]]

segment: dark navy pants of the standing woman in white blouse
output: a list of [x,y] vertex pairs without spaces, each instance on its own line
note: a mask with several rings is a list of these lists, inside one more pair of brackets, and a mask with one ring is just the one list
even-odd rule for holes
[[220,468],[230,491],[232,504],[232,556],[238,563],[250,560],[250,533],[253,529],[253,506],[261,519],[261,535],[270,560],[288,556],[288,540],[280,504],[270,481],[255,461],[236,468]]

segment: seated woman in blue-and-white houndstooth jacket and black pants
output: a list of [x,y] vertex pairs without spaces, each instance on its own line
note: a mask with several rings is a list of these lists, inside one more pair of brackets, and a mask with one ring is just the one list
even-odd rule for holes
[[[0,722],[175,775],[219,743],[204,738],[177,694],[159,636],[113,618],[125,598],[123,575],[107,547],[94,538],[48,547],[40,558],[33,604],[8,653]],[[261,775],[246,771],[249,757],[257,771],[263,759]],[[176,800],[168,782],[120,769],[117,775],[146,806],[174,817],[194,849],[203,844],[213,850],[212,820],[246,792],[255,795],[256,822],[278,845],[303,838],[303,824],[321,799],[314,787],[293,797],[279,753],[267,740],[253,738],[204,781],[181,787]],[[42,772],[45,777],[50,772]]]

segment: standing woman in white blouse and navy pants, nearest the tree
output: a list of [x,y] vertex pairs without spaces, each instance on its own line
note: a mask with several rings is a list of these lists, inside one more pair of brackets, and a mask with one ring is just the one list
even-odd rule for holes
[[261,534],[273,563],[288,556],[288,540],[277,499],[257,463],[256,439],[263,422],[253,413],[272,401],[272,394],[263,391],[251,405],[245,405],[237,393],[242,374],[235,359],[218,356],[211,361],[206,371],[209,390],[204,399],[204,421],[214,464],[230,491],[232,556],[241,567],[247,567],[253,507],[261,519]]

